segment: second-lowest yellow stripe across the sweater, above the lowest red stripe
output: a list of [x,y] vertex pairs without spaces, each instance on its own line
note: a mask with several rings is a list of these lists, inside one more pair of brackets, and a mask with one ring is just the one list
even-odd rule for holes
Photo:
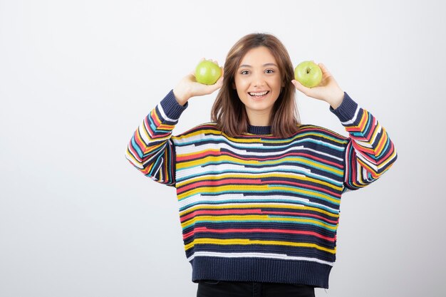
[[316,221],[315,219],[297,219],[297,218],[286,218],[286,217],[270,217],[269,215],[229,215],[229,216],[197,216],[188,219],[181,223],[183,229],[190,225],[195,224],[200,221],[212,221],[212,222],[222,222],[222,221],[232,221],[232,222],[245,222],[245,221],[264,221],[264,222],[299,222],[299,223],[311,223],[319,226],[323,226],[326,229],[331,229],[336,231],[337,226],[330,226],[323,222]]

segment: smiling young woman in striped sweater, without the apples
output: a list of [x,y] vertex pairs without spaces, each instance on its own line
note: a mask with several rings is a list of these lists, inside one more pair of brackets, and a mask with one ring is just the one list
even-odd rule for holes
[[[244,36],[214,85],[185,76],[147,115],[127,158],[177,189],[197,296],[314,296],[328,288],[341,194],[375,181],[396,160],[378,121],[339,87],[306,88],[274,36]],[[296,88],[324,100],[349,137],[301,125]],[[191,98],[219,90],[212,122],[172,136]]]

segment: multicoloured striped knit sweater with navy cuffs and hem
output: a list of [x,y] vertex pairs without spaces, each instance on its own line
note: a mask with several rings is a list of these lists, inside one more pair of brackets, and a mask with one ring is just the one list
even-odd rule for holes
[[288,138],[254,126],[229,137],[215,123],[172,136],[185,108],[170,91],[135,131],[126,157],[176,187],[192,281],[328,288],[341,194],[396,160],[384,128],[346,93],[331,111],[350,137],[314,125]]

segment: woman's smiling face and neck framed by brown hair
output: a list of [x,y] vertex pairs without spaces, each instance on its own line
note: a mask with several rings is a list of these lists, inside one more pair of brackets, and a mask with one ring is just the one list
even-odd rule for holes
[[282,83],[276,59],[265,46],[251,48],[234,76],[235,88],[244,103],[251,125],[270,125],[271,110]]

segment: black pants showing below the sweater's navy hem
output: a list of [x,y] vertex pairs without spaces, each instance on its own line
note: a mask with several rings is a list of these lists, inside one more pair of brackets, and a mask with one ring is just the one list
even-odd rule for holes
[[197,297],[314,297],[314,288],[290,283],[199,281]]

